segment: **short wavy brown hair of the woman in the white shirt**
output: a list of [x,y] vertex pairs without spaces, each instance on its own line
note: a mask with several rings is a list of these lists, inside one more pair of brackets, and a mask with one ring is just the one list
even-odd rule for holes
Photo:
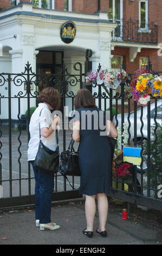
[[38,102],[46,102],[53,107],[53,109],[57,110],[60,108],[61,96],[59,91],[54,87],[47,87],[43,89],[38,96]]

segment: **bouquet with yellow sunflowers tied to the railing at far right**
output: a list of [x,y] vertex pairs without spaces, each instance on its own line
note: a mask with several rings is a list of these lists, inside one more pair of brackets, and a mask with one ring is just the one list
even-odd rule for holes
[[151,96],[162,96],[162,76],[152,75],[146,69],[135,71],[130,87],[126,89],[128,97],[133,96],[142,106],[147,106]]

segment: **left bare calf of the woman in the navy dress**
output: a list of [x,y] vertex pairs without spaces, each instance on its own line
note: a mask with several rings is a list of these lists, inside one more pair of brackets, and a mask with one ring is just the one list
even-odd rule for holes
[[86,194],[85,212],[86,212],[87,229],[85,229],[85,231],[93,231],[95,211],[96,211],[95,196],[87,196]]

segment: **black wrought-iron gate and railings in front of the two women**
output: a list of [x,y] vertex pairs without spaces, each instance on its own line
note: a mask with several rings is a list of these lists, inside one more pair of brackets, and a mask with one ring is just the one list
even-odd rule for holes
[[[32,192],[32,186],[34,176],[30,171],[30,164],[25,158],[27,154],[27,146],[30,138],[29,135],[29,120],[27,125],[27,131],[22,131],[21,124],[21,106],[27,106],[28,118],[30,117],[30,105],[31,100],[37,99],[39,89],[48,86],[54,86],[60,90],[62,97],[62,111],[63,107],[68,105],[70,109],[74,109],[74,98],[78,89],[86,87],[85,74],[92,69],[92,62],[89,61],[89,57],[92,56],[92,51],[89,49],[86,51],[86,61],[84,73],[82,72],[82,64],[75,63],[74,70],[77,71],[76,75],[69,74],[66,66],[62,65],[62,70],[59,74],[35,74],[30,64],[25,66],[22,74],[0,74],[0,114],[4,111],[8,112],[8,126],[3,126],[0,118],[0,186],[4,188],[4,195],[0,194],[0,208],[24,204],[34,203],[34,194]],[[122,67],[123,68],[123,67]],[[101,69],[99,65],[98,71]],[[147,64],[148,72],[155,74],[151,69],[151,63]],[[162,73],[162,72],[159,72]],[[130,74],[131,75],[131,74]],[[57,80],[57,76],[60,80]],[[31,85],[34,85],[36,90],[31,89]],[[25,86],[26,91],[17,88]],[[127,190],[125,189],[126,180],[119,180],[118,176],[112,176],[112,187],[109,192],[109,196],[113,198],[119,198],[125,202],[131,202],[134,204],[144,205],[148,208],[162,210],[162,199],[159,196],[158,177],[162,168],[158,166],[159,159],[159,143],[162,145],[162,141],[159,142],[157,136],[158,131],[158,117],[157,107],[162,98],[152,97],[152,103],[154,104],[154,115],[152,115],[152,103],[149,102],[148,106],[138,109],[137,102],[133,101],[131,97],[128,97],[125,92],[125,82],[120,84],[120,93],[113,93],[113,89],[109,89],[109,93],[104,90],[102,85],[94,84],[93,86],[87,86],[92,91],[96,100],[96,105],[102,108],[103,111],[109,107],[110,118],[114,120],[115,126],[121,126],[123,130],[123,124],[128,124],[128,145],[141,145],[141,165],[139,170],[135,168],[133,173],[132,182],[128,183]],[[5,90],[5,88],[8,90]],[[95,87],[95,88],[93,88]],[[75,90],[75,93],[74,93]],[[115,115],[113,117],[113,102],[115,102]],[[119,102],[121,104],[120,115],[118,115]],[[125,102],[127,102],[127,110],[125,108]],[[134,114],[131,112],[131,102],[133,102]],[[14,103],[14,109],[17,115],[18,129],[14,133],[12,131],[12,107]],[[162,105],[160,105],[162,106]],[[137,111],[138,114],[137,114]],[[64,112],[63,112],[64,113]],[[127,113],[127,115],[126,115]],[[60,131],[60,151],[65,150],[71,139],[72,131],[66,128],[66,120],[64,114],[62,114],[62,129]],[[144,121],[145,117],[145,121]],[[151,121],[153,120],[153,141],[151,137]],[[161,120],[161,119],[160,119]],[[146,129],[147,126],[147,129]],[[133,127],[133,129],[132,129]],[[140,127],[140,136],[137,133]],[[144,132],[145,128],[145,132]],[[131,130],[132,129],[132,130]],[[144,138],[147,139],[147,169],[143,169],[143,151],[144,151]],[[152,149],[153,142],[153,149]],[[160,156],[161,157],[161,156]],[[105,160],[106,161],[106,160]],[[153,164],[152,164],[153,163]],[[147,175],[146,175],[147,174]],[[144,183],[144,178],[147,178],[147,184]],[[80,180],[73,177],[71,182],[73,186],[79,187]],[[152,180],[154,183],[152,184]],[[60,182],[60,183],[59,183]],[[61,185],[61,186],[60,186]],[[160,185],[160,184],[159,184]],[[162,184],[161,184],[162,185]],[[63,187],[62,187],[63,186]],[[67,187],[66,179],[62,178],[59,174],[55,175],[55,191],[53,194],[53,200],[64,200],[78,198],[78,190],[72,191]],[[26,187],[26,188],[25,188]],[[0,187],[1,188],[1,187]],[[15,196],[15,190],[17,194]],[[2,198],[1,198],[2,197]]]

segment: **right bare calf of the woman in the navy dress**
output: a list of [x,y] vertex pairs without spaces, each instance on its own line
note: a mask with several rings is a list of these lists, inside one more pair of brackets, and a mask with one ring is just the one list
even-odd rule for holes
[[98,214],[99,214],[99,228],[98,231],[102,232],[106,230],[106,221],[108,214],[108,200],[105,193],[97,194],[98,198]]

